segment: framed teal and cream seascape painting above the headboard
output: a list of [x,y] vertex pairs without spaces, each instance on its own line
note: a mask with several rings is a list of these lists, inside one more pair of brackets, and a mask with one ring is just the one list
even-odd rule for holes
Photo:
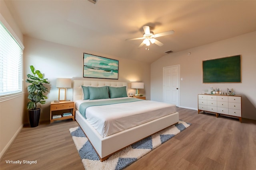
[[84,77],[118,79],[118,60],[84,53]]

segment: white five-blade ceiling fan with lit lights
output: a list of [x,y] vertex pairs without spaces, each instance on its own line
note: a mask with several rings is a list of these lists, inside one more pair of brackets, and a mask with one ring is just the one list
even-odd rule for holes
[[[138,48],[142,47],[144,44],[146,44],[146,46],[150,46],[150,42],[152,44],[156,44],[158,46],[163,46],[164,44],[161,43],[160,41],[156,40],[155,38],[156,37],[162,37],[162,36],[165,36],[165,35],[170,35],[170,34],[173,34],[174,31],[171,30],[171,31],[166,31],[166,32],[162,32],[162,33],[158,33],[158,34],[154,34],[153,31],[150,31],[150,27],[149,26],[143,26],[143,29],[144,29],[144,34],[143,34],[143,37],[140,37],[140,38],[130,38],[130,39],[126,39],[125,41],[130,41],[130,40],[136,40],[136,39],[144,39],[142,41],[142,43],[139,45]],[[147,49],[147,47],[146,47]]]

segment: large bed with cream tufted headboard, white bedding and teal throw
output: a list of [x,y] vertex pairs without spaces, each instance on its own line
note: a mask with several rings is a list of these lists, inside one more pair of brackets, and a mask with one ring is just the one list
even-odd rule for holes
[[[179,114],[176,112],[175,105],[126,96],[106,99],[96,98],[95,100],[86,98],[87,100],[84,100],[86,96],[84,96],[84,89],[81,86],[83,88],[88,87],[90,90],[96,87],[99,89],[108,87],[109,93],[112,92],[110,96],[115,92],[110,88],[122,88],[122,90],[125,88],[127,96],[128,83],[74,80],[75,119],[92,143],[101,161],[141,139],[178,123]],[[85,105],[86,108],[82,109],[82,105]],[[107,114],[104,111],[107,111],[110,117],[105,117]],[[119,113],[119,111],[122,111],[122,115],[116,117],[114,113]],[[93,117],[94,115],[96,117]]]

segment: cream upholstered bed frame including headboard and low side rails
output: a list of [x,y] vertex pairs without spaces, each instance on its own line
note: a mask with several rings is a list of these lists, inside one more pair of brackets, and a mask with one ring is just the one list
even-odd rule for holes
[[[120,87],[126,86],[126,91],[128,87],[127,82],[103,82],[103,81],[90,81],[90,80],[74,80],[73,84],[73,101],[82,99],[82,88],[81,86],[112,86]],[[104,161],[108,159],[109,156],[124,149],[127,146],[140,141],[166,127],[174,125],[179,121],[179,113],[172,113],[170,115],[160,117],[159,119],[144,123],[142,125],[132,127],[125,131],[121,131],[110,135],[108,137],[102,137],[94,127],[86,121],[86,119],[79,113],[78,108],[76,109],[77,123],[80,125],[88,140],[92,143],[92,146],[98,153],[100,160]]]

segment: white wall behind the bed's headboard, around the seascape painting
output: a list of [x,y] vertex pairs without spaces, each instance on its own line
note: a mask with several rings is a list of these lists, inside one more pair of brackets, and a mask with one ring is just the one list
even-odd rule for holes
[[[51,43],[39,39],[24,36],[24,79],[30,73],[30,65],[44,73],[50,84],[46,104],[41,107],[40,121],[50,121],[50,102],[58,100],[58,89],[56,88],[56,78],[72,78],[99,81],[119,81],[119,82],[144,82],[144,89],[140,90],[147,99],[150,99],[150,64],[141,63],[134,60],[123,59],[121,57],[100,54],[86,49],[79,49],[57,43]],[[83,78],[83,53],[116,59],[119,61],[119,78],[96,79]],[[26,88],[27,83],[24,84]],[[130,84],[128,85],[129,88]],[[26,92],[26,89],[24,90]],[[129,93],[135,94],[134,89]],[[26,94],[27,95],[27,92]],[[67,99],[72,100],[72,89],[67,90]],[[27,99],[26,99],[27,100]],[[26,101],[27,102],[27,101]],[[26,113],[24,113],[26,115]],[[27,116],[26,116],[27,117]],[[24,119],[28,122],[28,119]]]

